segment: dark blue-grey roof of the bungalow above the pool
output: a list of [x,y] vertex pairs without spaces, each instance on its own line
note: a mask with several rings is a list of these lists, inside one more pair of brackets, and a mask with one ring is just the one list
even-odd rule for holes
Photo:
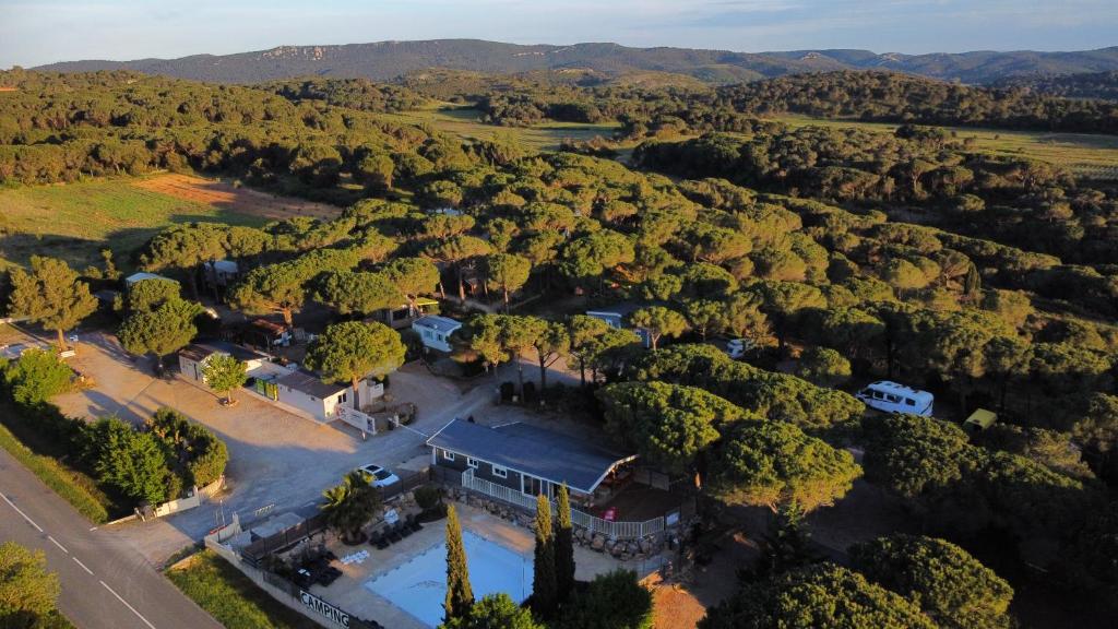
[[596,443],[530,424],[490,428],[463,420],[443,426],[427,444],[590,494],[618,463],[618,454]]

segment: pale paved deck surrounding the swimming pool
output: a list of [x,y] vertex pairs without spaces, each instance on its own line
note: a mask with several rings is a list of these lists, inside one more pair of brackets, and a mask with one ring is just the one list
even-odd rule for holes
[[[473,508],[461,503],[454,506],[458,510],[458,519],[462,523],[463,529],[471,531],[491,542],[499,543],[525,558],[532,557],[536,539],[531,531],[520,528],[506,520],[494,517],[484,509]],[[333,565],[341,569],[342,576],[329,588],[313,585],[311,592],[349,613],[376,620],[385,627],[391,627],[392,629],[429,629],[415,617],[392,604],[388,599],[366,588],[366,583],[408,562],[411,557],[424,551],[443,543],[445,541],[445,519],[440,519],[425,524],[421,531],[413,533],[411,536],[392,544],[383,551],[377,550],[369,544],[345,546],[331,535],[328,546],[339,557],[344,557],[359,551],[368,551],[369,557],[360,564],[341,565],[339,562],[334,562]],[[618,569],[637,571],[639,576],[644,576],[644,572],[646,572],[641,562],[619,562],[607,554],[596,553],[581,546],[575,546],[575,576],[585,581],[589,581],[598,574]],[[437,601],[435,604],[442,605],[443,601]]]

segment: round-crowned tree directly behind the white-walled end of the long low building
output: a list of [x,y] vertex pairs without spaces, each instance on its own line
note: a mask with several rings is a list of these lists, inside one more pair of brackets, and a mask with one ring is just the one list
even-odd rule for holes
[[334,382],[353,386],[353,407],[361,378],[382,379],[404,364],[406,348],[396,330],[383,323],[345,321],[329,326],[306,350],[304,364]]

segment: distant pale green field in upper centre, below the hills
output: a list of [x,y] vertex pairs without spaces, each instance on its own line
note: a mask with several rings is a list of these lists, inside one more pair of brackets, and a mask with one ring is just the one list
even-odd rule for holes
[[387,121],[399,124],[430,124],[435,129],[454,133],[468,140],[511,138],[520,147],[533,151],[553,151],[560,142],[589,140],[595,135],[609,138],[617,129],[615,122],[603,124],[576,122],[546,122],[532,126],[496,126],[480,121],[482,113],[468,106],[436,103],[426,109],[381,114]]

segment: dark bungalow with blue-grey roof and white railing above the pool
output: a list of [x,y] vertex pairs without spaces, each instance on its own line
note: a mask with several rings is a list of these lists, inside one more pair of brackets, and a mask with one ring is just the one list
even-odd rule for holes
[[512,489],[549,498],[566,484],[571,500],[593,501],[598,486],[636,459],[566,434],[523,423],[489,428],[453,420],[427,440],[432,464]]

